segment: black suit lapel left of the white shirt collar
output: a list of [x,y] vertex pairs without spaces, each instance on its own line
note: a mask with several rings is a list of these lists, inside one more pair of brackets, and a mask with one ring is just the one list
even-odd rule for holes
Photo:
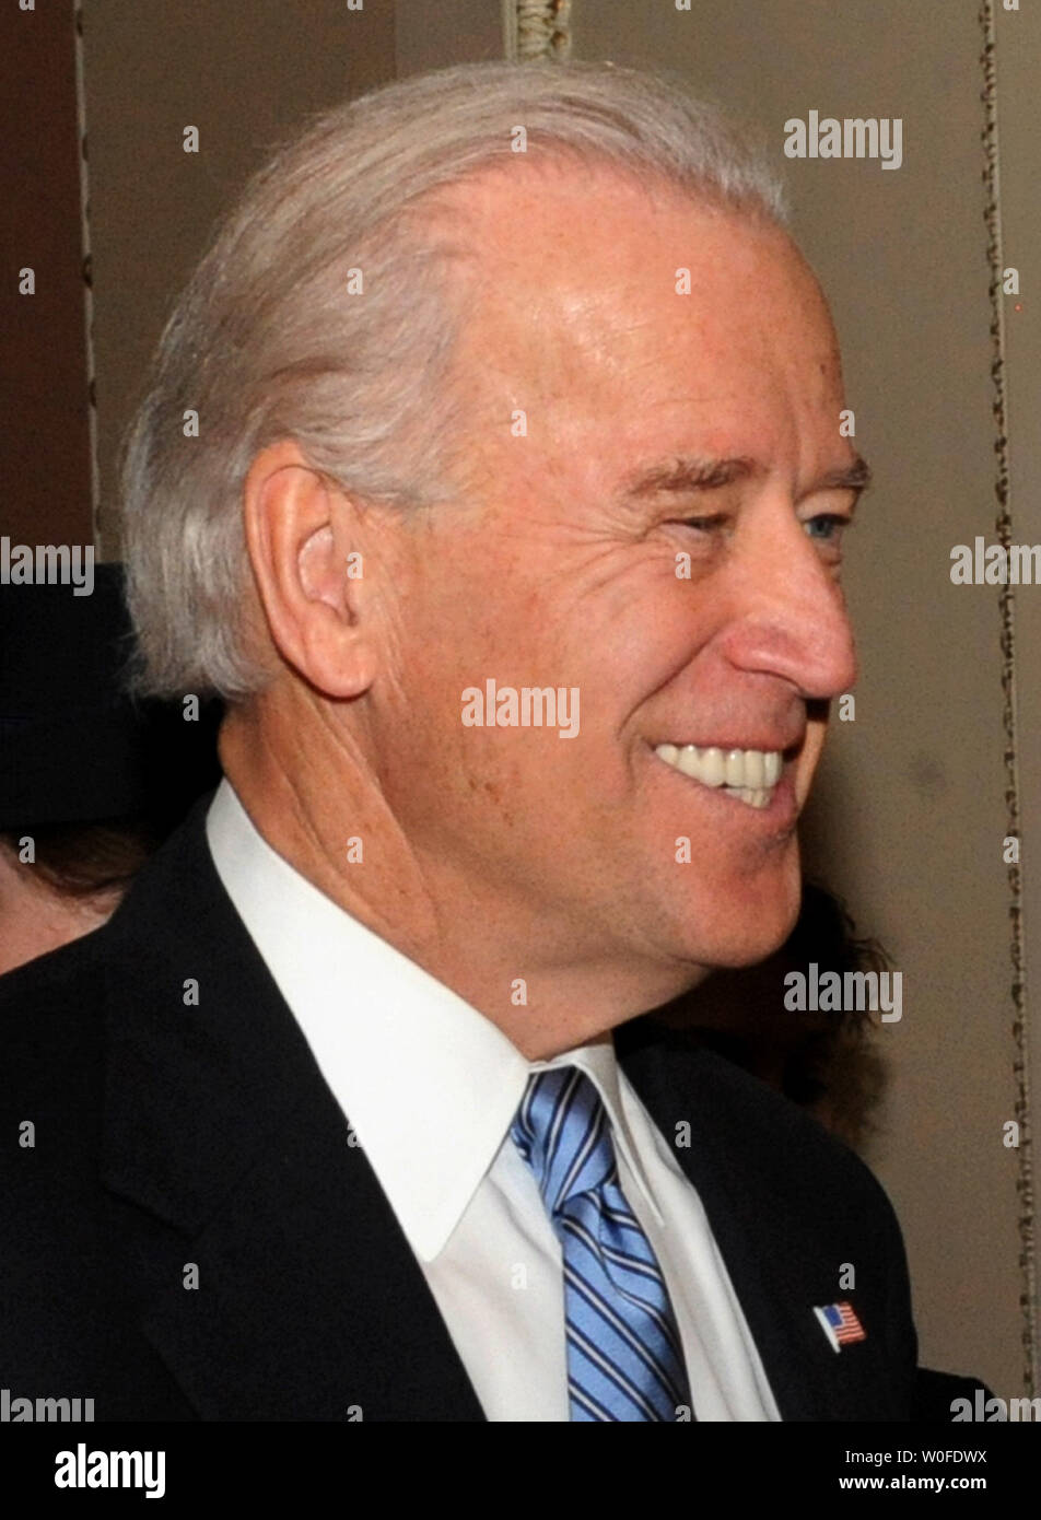
[[111,924],[105,1181],[143,1333],[205,1420],[482,1420],[204,819]]

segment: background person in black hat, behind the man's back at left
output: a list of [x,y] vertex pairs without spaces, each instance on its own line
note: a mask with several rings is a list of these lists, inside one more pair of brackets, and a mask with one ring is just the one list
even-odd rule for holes
[[0,587],[0,973],[105,923],[219,780],[214,704],[134,702],[129,637],[120,565]]

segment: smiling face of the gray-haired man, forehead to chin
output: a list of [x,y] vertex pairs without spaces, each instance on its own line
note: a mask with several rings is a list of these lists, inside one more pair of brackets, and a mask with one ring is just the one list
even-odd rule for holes
[[[571,964],[761,959],[854,679],[822,296],[783,233],[609,173],[497,170],[445,204],[480,249],[467,485],[401,529],[386,795],[474,933]],[[488,679],[577,689],[577,734],[465,725]]]

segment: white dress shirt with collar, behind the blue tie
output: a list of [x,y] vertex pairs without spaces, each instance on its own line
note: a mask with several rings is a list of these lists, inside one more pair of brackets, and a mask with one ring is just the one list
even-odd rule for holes
[[483,1014],[283,860],[228,781],[207,838],[488,1420],[568,1420],[561,1246],[509,1135],[530,1073],[562,1064],[581,1067],[606,1107],[622,1190],[672,1298],[698,1420],[778,1420],[701,1199],[614,1046],[527,1061]]

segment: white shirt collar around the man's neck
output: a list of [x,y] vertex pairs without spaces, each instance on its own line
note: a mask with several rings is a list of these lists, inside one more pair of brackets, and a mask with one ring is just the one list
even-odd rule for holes
[[346,1114],[412,1248],[432,1262],[491,1167],[532,1072],[581,1066],[658,1213],[611,1043],[529,1062],[462,997],[319,892],[228,781],[207,815],[217,874]]

